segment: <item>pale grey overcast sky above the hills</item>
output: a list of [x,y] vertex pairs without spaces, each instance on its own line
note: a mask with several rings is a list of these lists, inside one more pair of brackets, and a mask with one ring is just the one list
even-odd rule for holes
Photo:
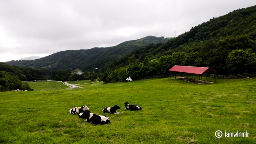
[[[255,0],[1,0],[0,62],[176,37]],[[176,31],[176,32],[175,32]]]

